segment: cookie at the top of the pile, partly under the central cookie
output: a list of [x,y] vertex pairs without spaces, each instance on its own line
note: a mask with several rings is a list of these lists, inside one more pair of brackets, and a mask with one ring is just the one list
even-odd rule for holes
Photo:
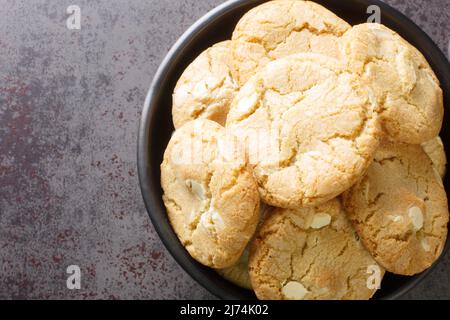
[[338,58],[338,39],[348,29],[347,22],[314,2],[266,2],[246,13],[233,32],[233,76],[242,86],[268,62],[296,53]]

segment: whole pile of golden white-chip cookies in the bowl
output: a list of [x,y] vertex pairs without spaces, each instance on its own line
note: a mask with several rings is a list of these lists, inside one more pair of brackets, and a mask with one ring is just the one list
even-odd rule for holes
[[433,70],[394,31],[264,3],[177,83],[170,222],[260,299],[370,299],[385,271],[414,275],[442,253],[443,112]]

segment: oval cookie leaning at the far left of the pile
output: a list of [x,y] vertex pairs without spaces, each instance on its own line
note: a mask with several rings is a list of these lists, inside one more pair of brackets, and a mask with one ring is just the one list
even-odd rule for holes
[[259,195],[245,152],[204,119],[175,131],[161,164],[170,223],[190,255],[212,268],[232,266],[259,221]]

